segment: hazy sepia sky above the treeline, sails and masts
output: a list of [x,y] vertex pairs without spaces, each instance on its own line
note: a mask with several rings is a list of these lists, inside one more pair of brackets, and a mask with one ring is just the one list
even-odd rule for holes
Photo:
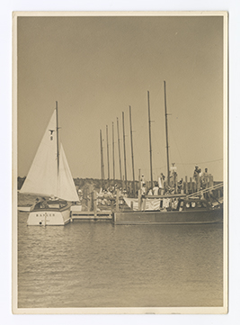
[[19,17],[18,176],[26,176],[58,101],[60,138],[74,177],[101,178],[100,130],[107,176],[106,125],[114,122],[115,175],[120,178],[117,117],[125,113],[128,179],[150,179],[147,91],[153,174],[166,175],[164,80],[170,163],[179,177],[194,166],[223,180],[223,18]]

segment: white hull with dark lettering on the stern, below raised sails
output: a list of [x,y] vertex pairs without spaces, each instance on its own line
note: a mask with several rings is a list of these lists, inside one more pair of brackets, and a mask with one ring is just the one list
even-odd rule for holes
[[70,204],[61,209],[36,209],[30,212],[28,226],[64,226],[70,221]]

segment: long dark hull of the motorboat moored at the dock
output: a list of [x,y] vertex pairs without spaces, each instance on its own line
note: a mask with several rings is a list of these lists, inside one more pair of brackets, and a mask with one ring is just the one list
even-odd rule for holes
[[223,210],[114,212],[115,224],[200,224],[223,221]]

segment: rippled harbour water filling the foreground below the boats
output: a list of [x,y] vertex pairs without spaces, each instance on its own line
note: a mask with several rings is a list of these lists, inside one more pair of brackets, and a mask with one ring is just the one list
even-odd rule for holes
[[223,225],[18,221],[18,307],[223,305]]

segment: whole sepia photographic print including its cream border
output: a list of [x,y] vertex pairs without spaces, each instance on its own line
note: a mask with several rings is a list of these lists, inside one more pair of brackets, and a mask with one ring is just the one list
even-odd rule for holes
[[227,13],[13,13],[13,313],[227,313]]

